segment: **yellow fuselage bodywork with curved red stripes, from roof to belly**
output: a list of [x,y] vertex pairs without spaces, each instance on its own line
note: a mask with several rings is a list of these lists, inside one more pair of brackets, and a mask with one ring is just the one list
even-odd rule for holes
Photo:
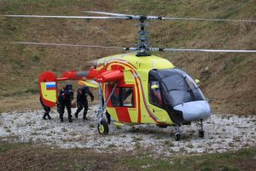
[[[148,101],[149,71],[173,68],[169,60],[154,55],[137,57],[135,54],[119,54],[98,60],[96,69],[101,70],[107,66],[107,70],[112,70],[113,65],[122,66],[125,84],[134,85],[136,107],[125,109],[130,115],[131,123],[173,124],[166,110],[151,105]],[[115,107],[108,107],[107,110],[114,120],[119,121]]]

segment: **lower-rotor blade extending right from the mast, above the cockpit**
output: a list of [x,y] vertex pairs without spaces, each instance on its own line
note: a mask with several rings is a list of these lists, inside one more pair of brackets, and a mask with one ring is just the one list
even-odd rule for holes
[[149,48],[150,51],[185,51],[185,52],[224,52],[224,53],[256,53],[256,50],[237,49],[195,49],[195,48]]

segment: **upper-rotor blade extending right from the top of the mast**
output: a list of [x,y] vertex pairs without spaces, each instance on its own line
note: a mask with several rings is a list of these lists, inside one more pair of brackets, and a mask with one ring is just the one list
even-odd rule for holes
[[209,20],[209,21],[231,21],[231,22],[256,22],[256,20],[229,20],[229,19],[196,19],[182,17],[162,17],[162,20]]

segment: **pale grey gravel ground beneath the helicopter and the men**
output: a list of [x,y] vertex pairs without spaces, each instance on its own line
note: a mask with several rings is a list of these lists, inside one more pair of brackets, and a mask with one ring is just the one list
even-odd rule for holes
[[[236,151],[256,145],[256,117],[236,115],[212,115],[204,123],[205,138],[198,137],[198,124],[181,128],[180,141],[174,140],[174,127],[158,128],[155,125],[134,125],[117,127],[109,125],[109,134],[97,132],[96,112],[98,105],[91,106],[89,121],[73,119],[60,123],[57,111],[53,110],[52,120],[42,119],[44,111],[13,111],[0,114],[0,140],[34,142],[56,145],[61,148],[90,148],[95,151],[138,151],[152,152],[158,156],[173,154],[212,153]],[[74,110],[73,110],[74,113]],[[67,117],[67,113],[64,114]],[[11,139],[10,139],[11,137]]]

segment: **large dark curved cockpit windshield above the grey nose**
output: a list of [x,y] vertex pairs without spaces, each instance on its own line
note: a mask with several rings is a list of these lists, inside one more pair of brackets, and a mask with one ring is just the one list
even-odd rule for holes
[[153,70],[149,83],[160,83],[160,94],[165,105],[179,105],[189,101],[206,100],[194,80],[181,69]]

